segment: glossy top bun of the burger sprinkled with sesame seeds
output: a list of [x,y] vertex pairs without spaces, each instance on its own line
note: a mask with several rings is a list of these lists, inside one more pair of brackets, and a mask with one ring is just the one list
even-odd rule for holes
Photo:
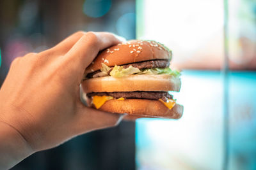
[[131,40],[111,46],[99,53],[85,74],[99,70],[103,62],[109,67],[145,60],[172,59],[172,52],[156,41]]

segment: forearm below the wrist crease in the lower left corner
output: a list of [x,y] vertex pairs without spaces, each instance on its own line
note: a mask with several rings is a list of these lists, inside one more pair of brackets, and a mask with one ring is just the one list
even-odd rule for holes
[[10,169],[32,153],[19,132],[0,121],[0,169]]

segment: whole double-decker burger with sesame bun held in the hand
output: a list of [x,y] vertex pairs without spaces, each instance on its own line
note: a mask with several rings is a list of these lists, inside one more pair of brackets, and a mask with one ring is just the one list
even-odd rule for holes
[[156,41],[131,40],[102,50],[84,71],[89,106],[128,118],[180,118],[180,73],[171,69],[172,51]]

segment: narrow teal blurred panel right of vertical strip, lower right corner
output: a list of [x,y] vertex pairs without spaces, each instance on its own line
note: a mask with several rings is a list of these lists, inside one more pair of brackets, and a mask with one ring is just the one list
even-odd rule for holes
[[256,169],[256,72],[230,73],[230,169]]

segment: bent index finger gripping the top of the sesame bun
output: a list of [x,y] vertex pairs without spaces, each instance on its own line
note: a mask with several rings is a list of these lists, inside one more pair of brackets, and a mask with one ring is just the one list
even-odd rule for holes
[[108,32],[86,32],[66,54],[68,60],[84,70],[100,50],[120,43],[120,39]]

